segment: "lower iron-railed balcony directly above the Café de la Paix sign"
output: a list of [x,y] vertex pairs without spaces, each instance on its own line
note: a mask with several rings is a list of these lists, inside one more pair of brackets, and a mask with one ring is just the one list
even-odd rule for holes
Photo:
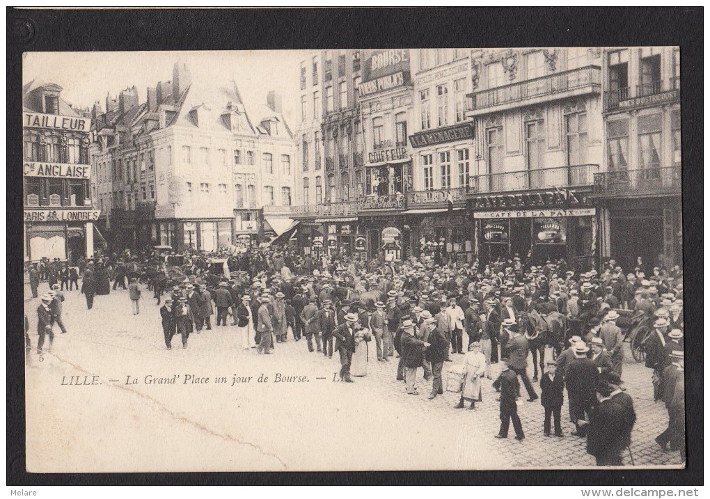
[[572,165],[542,170],[474,175],[469,177],[469,193],[581,187],[594,183],[597,170],[599,165]]

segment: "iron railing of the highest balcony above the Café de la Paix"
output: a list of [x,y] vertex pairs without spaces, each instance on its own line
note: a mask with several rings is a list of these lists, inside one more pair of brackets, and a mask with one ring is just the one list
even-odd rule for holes
[[553,96],[584,87],[601,87],[601,67],[586,66],[553,73],[503,87],[481,90],[466,98],[466,111],[487,109],[535,97]]

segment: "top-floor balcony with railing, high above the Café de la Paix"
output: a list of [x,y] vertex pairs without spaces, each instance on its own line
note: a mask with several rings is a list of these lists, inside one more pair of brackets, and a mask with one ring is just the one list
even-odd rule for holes
[[466,111],[469,116],[476,116],[510,109],[521,103],[537,104],[593,92],[601,92],[601,67],[579,67],[468,94]]

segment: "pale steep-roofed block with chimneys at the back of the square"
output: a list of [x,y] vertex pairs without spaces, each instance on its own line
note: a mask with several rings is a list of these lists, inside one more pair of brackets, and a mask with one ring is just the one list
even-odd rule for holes
[[[97,114],[94,184],[114,248],[146,244],[214,251],[278,236],[264,206],[290,203],[293,136],[280,99],[247,114],[235,82],[192,79],[176,63],[173,79],[107,99]],[[257,120],[253,121],[252,117]]]

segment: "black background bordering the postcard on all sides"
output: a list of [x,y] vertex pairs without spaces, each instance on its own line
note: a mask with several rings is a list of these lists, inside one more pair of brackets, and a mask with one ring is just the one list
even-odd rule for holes
[[[703,9],[7,9],[7,484],[474,484],[703,483],[702,77]],[[241,50],[680,45],[682,55],[684,314],[687,468],[634,471],[373,473],[97,473],[25,471],[22,53],[60,50]],[[110,62],[110,61],[109,61]],[[100,70],[100,68],[97,68]],[[661,230],[661,229],[659,229]],[[650,377],[649,377],[650,379]],[[446,424],[442,422],[442,424]],[[474,422],[472,422],[474,424]],[[288,437],[286,437],[288,438]],[[334,445],[336,441],[334,439]],[[344,446],[343,452],[347,452]],[[544,468],[545,463],[539,466]]]

